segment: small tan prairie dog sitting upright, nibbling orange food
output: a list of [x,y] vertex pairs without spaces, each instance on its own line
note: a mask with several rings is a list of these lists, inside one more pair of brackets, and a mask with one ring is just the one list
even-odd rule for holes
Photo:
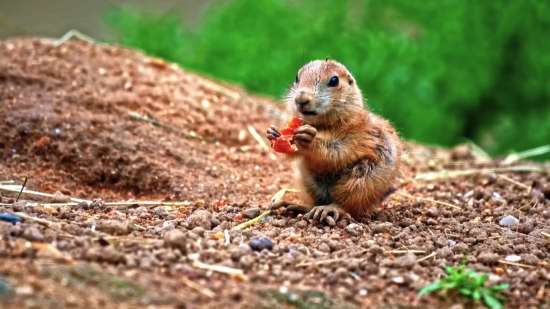
[[[402,141],[392,125],[370,112],[344,65],[331,59],[304,65],[286,97],[288,116],[303,119],[294,133],[302,205],[281,201],[271,209],[308,213],[313,220],[335,221],[372,213],[402,177]],[[271,126],[267,139],[280,136]]]

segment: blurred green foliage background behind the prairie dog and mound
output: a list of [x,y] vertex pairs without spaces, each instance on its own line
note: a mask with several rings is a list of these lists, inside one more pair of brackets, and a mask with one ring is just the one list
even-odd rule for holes
[[2,38],[70,29],[274,98],[331,57],[409,140],[550,144],[546,0],[0,0]]

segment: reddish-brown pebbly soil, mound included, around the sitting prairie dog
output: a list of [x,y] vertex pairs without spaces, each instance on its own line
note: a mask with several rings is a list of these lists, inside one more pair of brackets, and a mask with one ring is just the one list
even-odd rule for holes
[[[42,221],[0,221],[0,305],[480,307],[463,297],[417,296],[467,257],[490,284],[510,283],[506,307],[550,306],[544,172],[409,179],[401,189],[424,199],[394,194],[372,216],[335,227],[277,212],[231,230],[292,187],[291,168],[251,133],[267,142],[265,130],[279,121],[276,103],[117,46],[0,42],[0,181],[28,177],[27,189],[55,194],[15,202],[16,192],[1,191],[0,212]],[[465,146],[407,148],[410,176],[503,165],[480,163]],[[68,197],[93,202],[45,205]],[[105,205],[120,201],[130,202]],[[499,224],[507,215],[519,223]],[[501,262],[511,255],[520,266]]]

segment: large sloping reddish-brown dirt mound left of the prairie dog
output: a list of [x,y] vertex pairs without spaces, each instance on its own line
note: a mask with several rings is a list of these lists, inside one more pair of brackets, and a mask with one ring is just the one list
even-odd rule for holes
[[[209,197],[216,187],[216,198],[234,197],[262,181],[255,166],[278,169],[248,131],[250,125],[263,135],[273,122],[268,102],[238,89],[137,52],[85,42],[6,41],[0,59],[2,157],[17,165],[15,179],[19,172],[43,172],[28,175],[31,187],[87,198],[180,190],[188,199]],[[232,184],[225,181],[230,176]]]

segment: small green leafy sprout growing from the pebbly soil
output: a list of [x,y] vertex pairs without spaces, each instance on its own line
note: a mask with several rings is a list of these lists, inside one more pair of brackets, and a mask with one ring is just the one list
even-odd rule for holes
[[448,276],[442,280],[436,281],[423,287],[419,296],[437,291],[458,289],[458,293],[473,298],[475,301],[483,299],[485,305],[491,309],[502,308],[502,303],[506,301],[499,291],[507,289],[508,283],[485,287],[483,286],[489,276],[487,274],[477,274],[473,269],[466,270],[466,259],[462,262],[459,269],[451,266],[445,267]]

